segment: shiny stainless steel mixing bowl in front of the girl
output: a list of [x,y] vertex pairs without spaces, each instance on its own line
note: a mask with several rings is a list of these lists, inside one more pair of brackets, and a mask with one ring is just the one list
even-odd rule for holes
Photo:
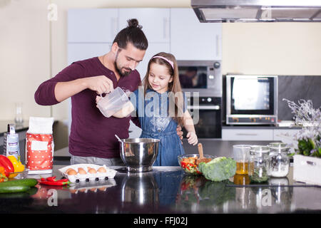
[[158,155],[158,139],[128,138],[121,139],[121,160],[130,172],[147,172],[152,170]]

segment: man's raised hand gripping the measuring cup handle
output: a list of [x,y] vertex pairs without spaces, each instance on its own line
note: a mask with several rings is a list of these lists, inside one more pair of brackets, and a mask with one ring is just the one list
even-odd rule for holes
[[113,91],[113,81],[106,76],[95,76],[84,78],[86,87],[96,91],[97,94],[109,93]]

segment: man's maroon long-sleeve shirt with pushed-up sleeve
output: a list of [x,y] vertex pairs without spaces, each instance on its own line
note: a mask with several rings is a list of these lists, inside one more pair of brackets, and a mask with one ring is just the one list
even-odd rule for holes
[[[117,81],[113,71],[109,70],[98,57],[77,61],[64,68],[54,78],[41,83],[34,94],[39,105],[55,105],[58,103],[54,94],[56,83],[73,81],[78,78],[106,76],[113,81],[113,87],[136,90],[141,84],[138,71]],[[120,157],[117,134],[120,138],[128,138],[128,118],[106,118],[96,107],[96,91],[83,90],[71,97],[71,133],[69,135],[69,152],[76,156]],[[139,125],[138,118],[132,118]]]

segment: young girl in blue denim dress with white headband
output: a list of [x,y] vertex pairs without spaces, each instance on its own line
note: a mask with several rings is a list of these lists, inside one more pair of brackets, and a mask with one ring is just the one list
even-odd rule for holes
[[154,165],[178,165],[178,155],[185,154],[177,135],[177,125],[188,131],[191,145],[198,143],[193,120],[180,87],[178,66],[170,53],[158,53],[148,62],[141,88],[131,95],[131,102],[113,116],[123,118],[136,110],[141,123],[141,138],[158,138],[158,156]]

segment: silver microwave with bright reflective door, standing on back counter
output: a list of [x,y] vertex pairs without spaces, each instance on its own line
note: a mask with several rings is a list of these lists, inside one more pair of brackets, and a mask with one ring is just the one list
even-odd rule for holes
[[277,76],[227,75],[226,124],[276,125]]

